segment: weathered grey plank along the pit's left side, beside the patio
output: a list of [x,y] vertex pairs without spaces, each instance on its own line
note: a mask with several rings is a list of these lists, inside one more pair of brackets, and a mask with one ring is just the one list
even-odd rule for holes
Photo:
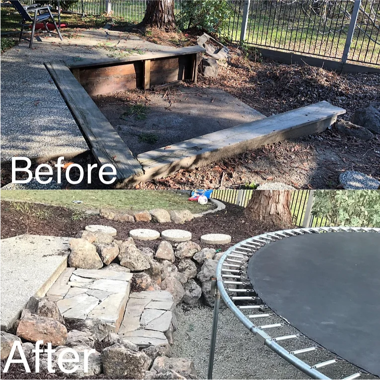
[[119,181],[142,175],[140,163],[63,61],[45,63],[45,66],[90,142],[99,164],[113,164]]

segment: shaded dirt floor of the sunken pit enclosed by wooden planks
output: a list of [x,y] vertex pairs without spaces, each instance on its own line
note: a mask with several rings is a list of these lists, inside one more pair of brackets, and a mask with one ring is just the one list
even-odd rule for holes
[[263,118],[218,88],[123,91],[94,101],[133,155]]

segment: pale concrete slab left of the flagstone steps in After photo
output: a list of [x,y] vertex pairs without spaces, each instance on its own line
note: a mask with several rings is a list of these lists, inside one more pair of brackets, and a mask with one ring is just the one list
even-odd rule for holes
[[9,329],[31,296],[42,297],[67,267],[69,238],[20,235],[1,240],[1,330]]

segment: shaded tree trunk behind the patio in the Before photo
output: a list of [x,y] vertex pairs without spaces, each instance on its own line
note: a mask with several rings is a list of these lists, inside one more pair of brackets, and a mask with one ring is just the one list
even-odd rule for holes
[[174,0],[148,0],[141,24],[166,30],[175,29]]

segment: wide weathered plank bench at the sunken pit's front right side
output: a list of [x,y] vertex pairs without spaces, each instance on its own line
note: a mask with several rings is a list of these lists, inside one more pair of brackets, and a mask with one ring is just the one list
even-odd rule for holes
[[186,141],[141,153],[137,159],[144,169],[144,176],[134,178],[133,183],[161,178],[180,169],[194,168],[225,157],[281,140],[306,136],[324,131],[335,123],[343,108],[328,102],[204,134]]

